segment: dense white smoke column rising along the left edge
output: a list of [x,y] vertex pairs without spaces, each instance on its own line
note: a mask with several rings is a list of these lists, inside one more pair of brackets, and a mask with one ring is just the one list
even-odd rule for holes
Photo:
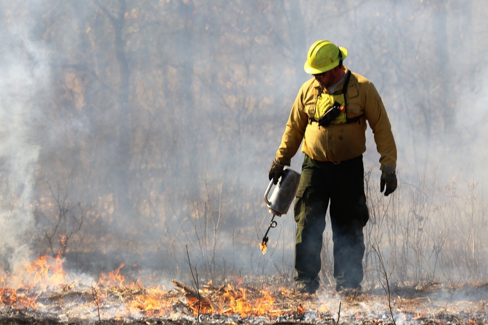
[[33,253],[29,240],[35,233],[33,198],[41,150],[34,131],[42,121],[39,105],[49,92],[50,69],[46,48],[31,34],[30,17],[24,21],[5,8],[0,11],[8,22],[0,36],[0,251],[15,266]]

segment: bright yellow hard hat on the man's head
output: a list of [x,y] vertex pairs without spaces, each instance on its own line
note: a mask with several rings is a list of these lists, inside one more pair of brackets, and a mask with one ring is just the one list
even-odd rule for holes
[[344,47],[336,46],[328,40],[318,40],[310,46],[305,62],[305,72],[310,75],[329,71],[347,57]]

